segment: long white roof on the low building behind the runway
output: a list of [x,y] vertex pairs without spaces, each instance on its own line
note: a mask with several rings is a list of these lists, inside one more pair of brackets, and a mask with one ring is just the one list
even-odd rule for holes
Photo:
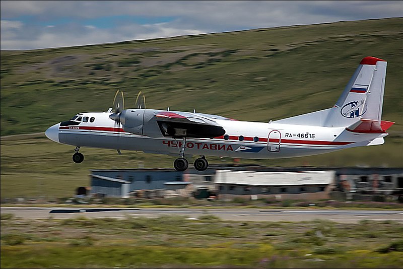
[[258,186],[331,184],[335,171],[250,172],[217,170],[214,183]]

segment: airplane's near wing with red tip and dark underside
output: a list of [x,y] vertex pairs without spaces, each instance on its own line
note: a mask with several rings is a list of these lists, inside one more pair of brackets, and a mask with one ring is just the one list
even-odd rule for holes
[[220,124],[199,113],[161,111],[155,117],[165,137],[215,138],[225,134]]

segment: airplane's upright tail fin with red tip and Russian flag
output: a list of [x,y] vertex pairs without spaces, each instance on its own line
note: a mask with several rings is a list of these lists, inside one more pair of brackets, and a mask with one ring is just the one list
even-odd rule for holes
[[330,109],[323,126],[350,126],[365,119],[381,123],[386,61],[365,57],[339,100]]

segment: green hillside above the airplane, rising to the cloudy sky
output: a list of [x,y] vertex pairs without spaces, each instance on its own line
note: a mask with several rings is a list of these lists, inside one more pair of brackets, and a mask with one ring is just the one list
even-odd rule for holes
[[385,120],[402,129],[403,19],[1,51],[1,136],[105,111],[116,89],[134,106],[268,121],[331,107],[360,60],[388,61]]

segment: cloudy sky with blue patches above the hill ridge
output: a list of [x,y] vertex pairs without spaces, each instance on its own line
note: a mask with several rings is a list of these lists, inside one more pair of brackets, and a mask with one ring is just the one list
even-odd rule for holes
[[403,17],[403,1],[1,1],[1,49]]

